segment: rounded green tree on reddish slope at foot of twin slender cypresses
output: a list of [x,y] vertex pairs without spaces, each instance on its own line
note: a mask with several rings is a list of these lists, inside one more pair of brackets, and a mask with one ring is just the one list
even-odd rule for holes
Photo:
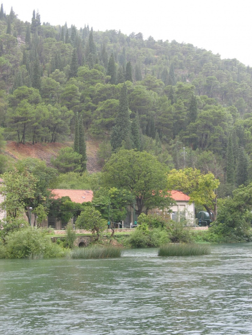
[[73,148],[66,147],[59,150],[57,157],[51,159],[51,163],[61,173],[79,172],[82,170],[81,157]]

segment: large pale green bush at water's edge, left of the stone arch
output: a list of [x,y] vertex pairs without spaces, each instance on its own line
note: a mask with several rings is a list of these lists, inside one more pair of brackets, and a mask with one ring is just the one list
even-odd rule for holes
[[62,257],[66,251],[50,238],[41,229],[32,227],[22,228],[6,236],[7,258],[34,258],[34,257]]

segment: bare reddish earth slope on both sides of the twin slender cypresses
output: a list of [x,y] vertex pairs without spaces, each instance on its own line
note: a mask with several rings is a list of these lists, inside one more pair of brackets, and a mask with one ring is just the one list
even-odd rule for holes
[[[13,141],[7,141],[5,153],[14,159],[23,158],[39,158],[46,162],[47,166],[52,166],[50,163],[51,157],[56,157],[58,151],[66,146],[71,146],[73,143],[35,143],[27,142],[20,144]],[[98,142],[87,141],[87,170],[89,173],[101,171],[101,167],[97,163]]]

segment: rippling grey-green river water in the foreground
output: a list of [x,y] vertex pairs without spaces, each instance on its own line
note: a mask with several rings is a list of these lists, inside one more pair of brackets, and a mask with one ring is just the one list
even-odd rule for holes
[[0,260],[1,334],[252,334],[252,243],[209,256]]

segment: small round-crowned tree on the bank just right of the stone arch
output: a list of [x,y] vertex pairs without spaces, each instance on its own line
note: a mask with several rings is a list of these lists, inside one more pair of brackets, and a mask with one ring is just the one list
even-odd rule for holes
[[86,207],[78,216],[75,224],[81,229],[91,229],[93,234],[96,232],[97,239],[100,232],[107,227],[107,221],[102,219],[101,213],[94,207]]

